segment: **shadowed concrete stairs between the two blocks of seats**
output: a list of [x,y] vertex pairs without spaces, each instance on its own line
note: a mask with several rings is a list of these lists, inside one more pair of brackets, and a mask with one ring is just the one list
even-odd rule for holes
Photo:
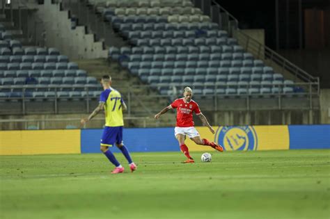
[[[170,104],[170,100],[163,97],[155,97],[158,95],[156,90],[152,90],[143,83],[138,77],[132,76],[129,72],[117,62],[100,59],[73,60],[79,65],[80,69],[86,70],[88,76],[95,76],[98,80],[104,74],[109,74],[113,81],[113,88],[120,91],[125,98],[127,106],[129,106],[129,117],[150,117],[147,121],[148,126],[160,127],[175,124],[175,112],[168,112],[163,115],[160,120],[152,120],[153,115],[158,113],[162,108]],[[130,98],[128,97],[130,93]],[[129,102],[130,99],[130,102]],[[127,116],[127,113],[126,113]],[[133,122],[134,120],[132,120]],[[135,120],[132,126],[143,127],[141,121]]]

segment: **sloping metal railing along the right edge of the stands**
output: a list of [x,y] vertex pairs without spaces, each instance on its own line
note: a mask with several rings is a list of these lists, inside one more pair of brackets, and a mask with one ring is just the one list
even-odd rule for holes
[[222,8],[219,3],[212,0],[211,5],[211,19],[212,22],[217,22],[221,29],[228,32],[230,36],[234,36],[238,43],[244,47],[246,51],[249,51],[255,58],[263,60],[265,64],[272,66],[274,70],[281,72],[283,74],[292,74],[295,81],[308,82],[313,84],[313,89],[320,94],[320,79],[315,76],[311,76],[300,67],[294,65],[289,60],[276,53],[276,51],[261,44],[257,40],[254,40],[246,33],[243,33],[239,29],[239,22],[237,19],[228,13],[227,10]]

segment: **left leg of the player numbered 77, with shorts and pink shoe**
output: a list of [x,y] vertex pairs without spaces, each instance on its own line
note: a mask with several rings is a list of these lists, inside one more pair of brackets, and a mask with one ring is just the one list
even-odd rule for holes
[[117,161],[116,157],[113,155],[113,153],[110,151],[109,147],[112,147],[115,143],[115,140],[113,138],[113,129],[112,127],[105,127],[102,134],[102,140],[101,140],[101,151],[105,156],[107,156],[107,159],[116,166],[116,168],[111,173],[120,173],[124,171],[124,168],[120,163]]

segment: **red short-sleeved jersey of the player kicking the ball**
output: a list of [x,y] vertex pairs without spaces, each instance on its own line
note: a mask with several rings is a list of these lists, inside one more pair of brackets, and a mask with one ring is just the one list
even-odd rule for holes
[[184,102],[184,98],[175,99],[171,104],[172,108],[177,108],[176,126],[177,127],[194,127],[192,113],[201,114],[199,106],[191,99],[189,103]]

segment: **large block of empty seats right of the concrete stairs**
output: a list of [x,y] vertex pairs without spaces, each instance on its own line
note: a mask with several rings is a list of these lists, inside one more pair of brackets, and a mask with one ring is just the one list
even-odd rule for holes
[[173,94],[164,83],[178,83],[178,90],[191,86],[201,95],[294,92],[293,81],[284,83],[282,74],[244,51],[191,1],[88,3],[132,45],[111,47],[109,57],[162,94]]

